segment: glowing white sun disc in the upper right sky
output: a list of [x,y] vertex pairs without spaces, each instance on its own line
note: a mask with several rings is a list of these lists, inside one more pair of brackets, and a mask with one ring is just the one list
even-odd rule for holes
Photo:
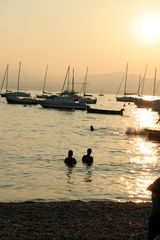
[[134,26],[137,38],[145,42],[160,41],[160,17],[154,15],[137,19]]

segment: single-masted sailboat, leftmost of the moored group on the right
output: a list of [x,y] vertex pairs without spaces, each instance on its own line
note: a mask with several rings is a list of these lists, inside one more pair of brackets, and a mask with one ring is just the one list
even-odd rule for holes
[[[124,80],[124,95],[122,97],[117,97],[117,95],[119,94],[119,90],[121,88],[123,80]],[[116,100],[119,102],[134,102],[135,101],[135,97],[130,96],[130,95],[135,95],[135,93],[127,92],[127,80],[128,80],[128,63],[126,64],[125,76],[121,80],[121,83],[120,83],[120,86],[118,88],[118,92],[116,95]]]

